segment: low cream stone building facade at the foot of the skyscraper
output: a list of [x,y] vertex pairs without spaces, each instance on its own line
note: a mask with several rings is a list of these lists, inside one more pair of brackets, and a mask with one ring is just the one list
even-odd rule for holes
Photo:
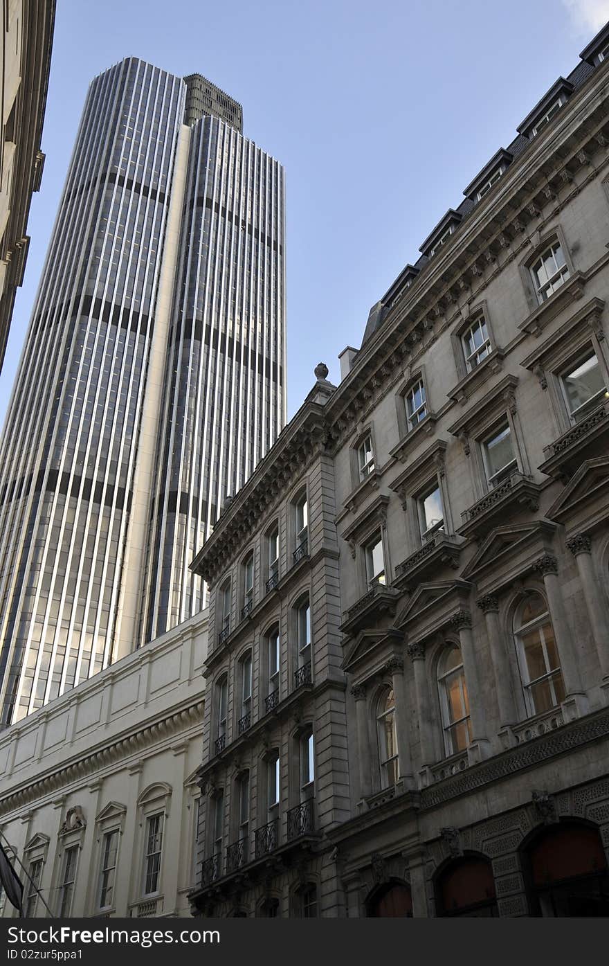
[[203,611],[0,735],[25,916],[189,915],[206,651]]

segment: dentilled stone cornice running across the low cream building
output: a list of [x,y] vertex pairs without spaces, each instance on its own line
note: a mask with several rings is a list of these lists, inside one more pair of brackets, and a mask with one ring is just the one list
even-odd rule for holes
[[86,754],[84,757],[78,757],[70,761],[69,764],[44,775],[43,778],[31,781],[24,787],[10,791],[0,799],[0,815],[5,815],[7,812],[21,808],[43,795],[55,792],[72,781],[84,780],[87,776],[96,774],[101,768],[114,765],[133,753],[141,753],[160,739],[168,738],[193,725],[201,724],[204,710],[205,700],[186,705],[186,707],[172,712],[160,721],[150,722],[137,731],[127,731],[97,748],[96,751]]

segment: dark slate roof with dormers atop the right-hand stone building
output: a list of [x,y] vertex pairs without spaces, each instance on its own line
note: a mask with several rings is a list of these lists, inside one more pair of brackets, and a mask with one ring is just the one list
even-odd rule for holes
[[[556,96],[561,90],[565,91],[568,95],[576,91],[578,88],[580,88],[583,84],[586,83],[590,75],[594,73],[594,71],[596,70],[595,65],[591,63],[591,61],[593,60],[596,51],[600,49],[607,41],[609,41],[609,21],[604,25],[604,27],[602,27],[601,30],[598,31],[598,33],[593,38],[593,40],[588,44],[588,46],[585,47],[584,50],[582,50],[581,54],[579,55],[581,58],[579,64],[577,64],[576,67],[574,67],[573,70],[567,74],[567,77],[559,77],[558,80],[556,80],[555,83],[550,87],[550,89],[546,91],[546,93],[543,95],[540,101],[538,101],[538,103],[533,108],[533,110],[530,111],[529,114],[527,114],[527,117],[525,118],[525,120],[522,122],[521,125],[519,125],[518,133],[514,137],[512,144],[509,144],[507,149],[505,149],[506,154],[512,155],[513,159],[515,160],[517,157],[522,155],[524,151],[526,151],[526,149],[531,144],[531,141],[529,140],[528,137],[525,136],[525,134],[522,133],[522,130],[526,129],[527,125],[530,126],[531,120],[534,119],[536,112],[538,110],[539,111],[541,110],[545,100],[548,100],[548,99],[551,100],[552,96],[553,95]],[[473,180],[471,185],[468,185],[468,187],[465,189],[465,191],[463,192],[464,194],[472,187],[472,185],[476,184],[476,182],[482,176],[486,168],[491,166],[492,162],[498,156],[500,156],[503,151],[504,149],[499,149],[499,151],[496,152],[495,155],[493,155],[490,158],[490,160],[486,162],[486,164],[484,165],[484,168],[481,169],[480,173],[476,176],[476,178]],[[467,215],[475,207],[476,207],[476,203],[471,198],[466,197],[463,199],[463,201],[461,201],[459,205],[457,205],[456,209],[450,208],[448,212],[435,226],[433,231],[429,234],[426,241],[423,242],[419,251],[423,251],[425,248],[429,247],[429,241],[433,240],[434,235],[439,231],[442,225],[444,225],[445,223],[448,225],[448,223],[451,221],[452,218],[454,218],[456,221],[457,220],[456,215],[461,216],[461,221],[465,220]],[[456,226],[456,229],[455,229],[456,232],[458,231],[458,229],[459,229],[459,224],[457,224]],[[407,280],[407,277],[409,274],[408,270],[412,270],[412,269],[423,270],[426,268],[428,264],[429,264],[429,258],[427,257],[427,255],[421,255],[420,258],[418,258],[417,261],[414,263],[414,266],[411,266],[409,264],[406,265],[405,268],[401,270],[401,273],[400,275],[398,275],[398,278],[387,289],[387,292],[385,293],[383,298],[381,298],[373,305],[368,316],[368,322],[366,323],[366,328],[364,330],[362,347],[366,342],[368,342],[368,340],[372,337],[372,335],[374,335],[374,332],[379,327],[382,326],[385,320],[385,317],[389,311],[391,300],[394,299],[396,295],[398,295],[400,291],[401,283]]]

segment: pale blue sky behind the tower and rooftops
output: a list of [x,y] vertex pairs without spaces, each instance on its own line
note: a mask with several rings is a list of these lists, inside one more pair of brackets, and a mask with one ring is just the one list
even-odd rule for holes
[[609,0],[58,0],[4,421],[90,80],[127,55],[200,71],[287,170],[289,415],[370,306],[609,19]]

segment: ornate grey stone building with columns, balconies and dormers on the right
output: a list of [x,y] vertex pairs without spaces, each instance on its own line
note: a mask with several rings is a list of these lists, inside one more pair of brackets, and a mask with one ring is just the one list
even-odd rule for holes
[[195,915],[609,915],[608,60],[609,25],[193,563]]

